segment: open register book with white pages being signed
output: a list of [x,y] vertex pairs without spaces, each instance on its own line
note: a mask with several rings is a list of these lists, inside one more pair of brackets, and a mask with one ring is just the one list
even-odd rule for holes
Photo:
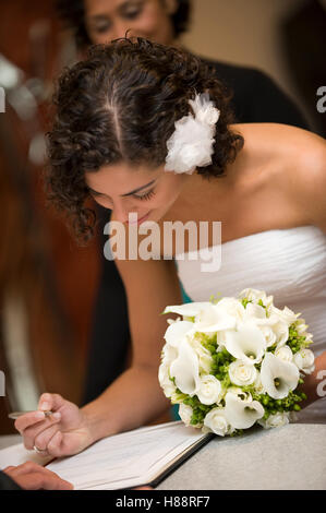
[[[182,421],[167,422],[99,440],[80,454],[52,461],[47,468],[72,482],[75,490],[155,487],[213,437]],[[13,454],[16,448],[22,452],[21,445],[3,451]]]

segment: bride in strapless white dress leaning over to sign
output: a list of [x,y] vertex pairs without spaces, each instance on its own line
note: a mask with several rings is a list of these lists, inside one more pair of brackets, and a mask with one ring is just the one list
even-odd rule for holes
[[[218,271],[201,273],[200,261],[178,260],[174,243],[174,259],[164,249],[149,260],[118,258],[132,365],[83,408],[43,394],[39,410],[15,421],[25,446],[53,456],[75,454],[148,423],[168,407],[158,383],[167,329],[159,313],[182,302],[179,279],[193,301],[249,287],[274,295],[279,308],[302,312],[317,358],[299,416],[325,421],[317,393],[326,369],[325,141],[283,124],[232,124],[222,85],[207,64],[142,38],[93,47],[86,60],[63,72],[55,104],[46,180],[50,199],[70,215],[80,239],[93,234],[96,219],[87,205],[93,196],[112,210],[126,238],[145,220],[156,223],[161,237],[166,222],[218,220],[222,259]],[[209,236],[207,247],[214,242]],[[184,240],[185,255],[193,249]]]

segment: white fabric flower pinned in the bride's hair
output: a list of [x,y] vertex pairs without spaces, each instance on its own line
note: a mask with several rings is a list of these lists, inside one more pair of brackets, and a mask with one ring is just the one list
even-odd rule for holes
[[189,114],[176,121],[176,130],[167,141],[166,171],[191,175],[196,167],[212,164],[216,123],[220,111],[209,99],[208,93],[196,94]]

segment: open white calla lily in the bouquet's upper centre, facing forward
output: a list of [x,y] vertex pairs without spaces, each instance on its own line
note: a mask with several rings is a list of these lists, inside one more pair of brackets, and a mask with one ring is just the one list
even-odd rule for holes
[[253,324],[242,324],[238,331],[226,331],[227,350],[244,363],[254,365],[262,361],[266,341],[261,330]]

